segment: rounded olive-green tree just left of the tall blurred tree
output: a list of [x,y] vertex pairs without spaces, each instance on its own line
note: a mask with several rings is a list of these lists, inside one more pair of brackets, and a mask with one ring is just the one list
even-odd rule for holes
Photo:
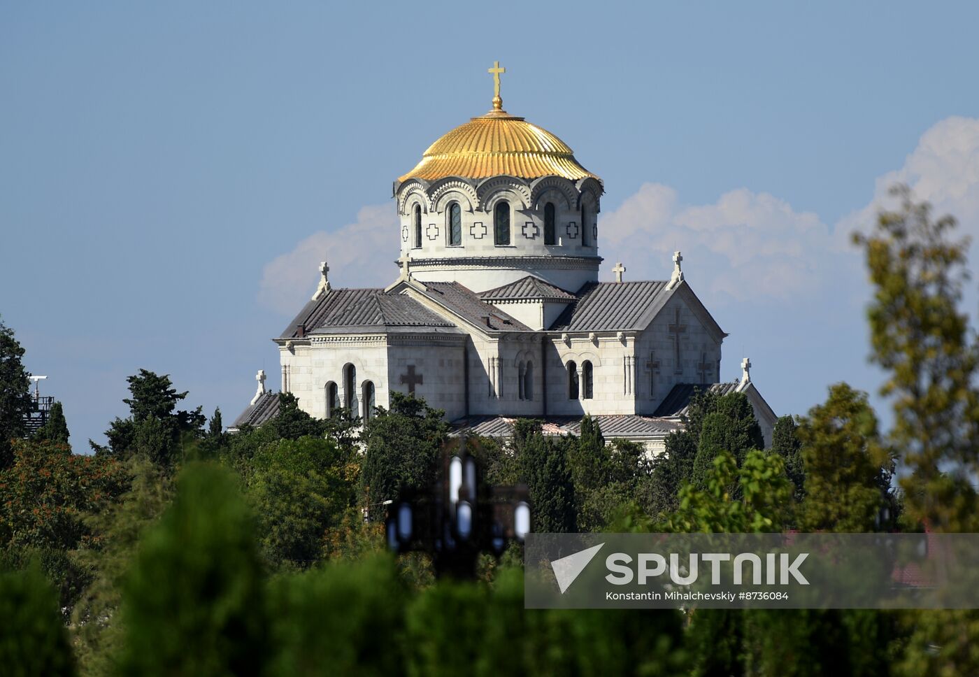
[[882,444],[866,394],[846,383],[800,419],[806,464],[804,531],[873,531],[888,505],[894,459]]

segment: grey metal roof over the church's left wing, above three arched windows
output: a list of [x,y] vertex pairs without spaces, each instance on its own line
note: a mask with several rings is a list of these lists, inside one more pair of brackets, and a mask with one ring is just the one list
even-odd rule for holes
[[296,338],[297,327],[306,333],[325,333],[338,327],[451,327],[451,321],[433,313],[403,294],[383,289],[331,289],[285,328],[280,338]]

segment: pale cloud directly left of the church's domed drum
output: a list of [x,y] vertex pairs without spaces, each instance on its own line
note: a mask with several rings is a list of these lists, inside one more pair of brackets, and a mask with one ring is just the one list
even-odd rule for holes
[[313,233],[269,262],[262,270],[258,302],[283,314],[299,310],[316,289],[324,259],[334,287],[386,286],[397,277],[397,244],[395,205],[364,207],[355,222]]

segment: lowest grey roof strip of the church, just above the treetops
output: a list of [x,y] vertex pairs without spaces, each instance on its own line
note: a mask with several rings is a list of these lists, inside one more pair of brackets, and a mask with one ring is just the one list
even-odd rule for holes
[[[457,433],[467,432],[483,437],[512,437],[513,426],[518,416],[469,416],[452,421]],[[605,439],[614,437],[666,437],[680,429],[674,420],[637,414],[597,415],[592,420],[598,423]],[[541,430],[545,435],[581,434],[581,416],[547,416],[541,420]]]

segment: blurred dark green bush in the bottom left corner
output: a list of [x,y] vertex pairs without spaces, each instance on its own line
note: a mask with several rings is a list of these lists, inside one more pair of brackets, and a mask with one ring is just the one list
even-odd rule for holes
[[58,595],[39,571],[0,571],[0,618],[0,665],[5,675],[74,674]]

